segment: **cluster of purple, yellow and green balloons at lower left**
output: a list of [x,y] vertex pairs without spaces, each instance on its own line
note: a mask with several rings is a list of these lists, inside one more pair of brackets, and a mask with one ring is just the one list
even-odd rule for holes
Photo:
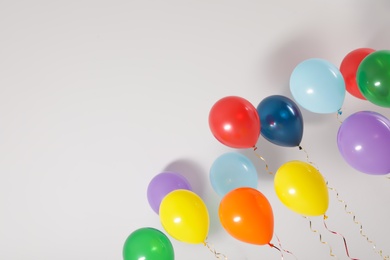
[[[157,174],[148,185],[147,199],[172,237],[187,243],[205,241],[209,229],[208,211],[184,176],[175,172]],[[174,260],[174,251],[164,233],[155,228],[140,228],[127,238],[123,259]]]

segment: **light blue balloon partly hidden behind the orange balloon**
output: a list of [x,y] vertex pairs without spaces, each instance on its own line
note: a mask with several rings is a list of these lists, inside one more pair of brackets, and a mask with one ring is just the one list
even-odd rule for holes
[[214,191],[224,197],[240,187],[257,189],[257,171],[243,154],[230,152],[219,156],[210,168],[210,181]]

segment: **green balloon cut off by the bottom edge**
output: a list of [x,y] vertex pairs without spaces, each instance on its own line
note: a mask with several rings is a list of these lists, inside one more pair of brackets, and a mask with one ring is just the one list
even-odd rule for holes
[[154,228],[140,228],[126,239],[123,246],[124,260],[174,260],[171,241]]

